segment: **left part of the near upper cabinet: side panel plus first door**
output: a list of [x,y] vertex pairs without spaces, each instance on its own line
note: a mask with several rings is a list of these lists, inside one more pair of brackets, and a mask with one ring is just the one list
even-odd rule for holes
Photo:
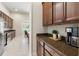
[[63,2],[43,3],[43,24],[52,25],[62,23],[64,20]]

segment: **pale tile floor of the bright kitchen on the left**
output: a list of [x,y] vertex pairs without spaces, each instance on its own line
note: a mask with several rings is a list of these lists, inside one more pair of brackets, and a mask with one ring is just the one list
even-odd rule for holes
[[27,38],[18,36],[8,43],[2,56],[28,56],[28,50]]

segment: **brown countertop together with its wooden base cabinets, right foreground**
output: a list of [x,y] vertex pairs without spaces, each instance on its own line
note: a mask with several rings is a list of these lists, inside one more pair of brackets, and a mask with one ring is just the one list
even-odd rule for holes
[[79,48],[70,46],[65,40],[54,41],[51,34],[37,34],[38,56],[78,56]]

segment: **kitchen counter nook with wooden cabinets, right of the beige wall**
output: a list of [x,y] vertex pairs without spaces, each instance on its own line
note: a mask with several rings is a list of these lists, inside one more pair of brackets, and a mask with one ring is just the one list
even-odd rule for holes
[[79,3],[43,2],[45,33],[37,33],[38,56],[79,55]]

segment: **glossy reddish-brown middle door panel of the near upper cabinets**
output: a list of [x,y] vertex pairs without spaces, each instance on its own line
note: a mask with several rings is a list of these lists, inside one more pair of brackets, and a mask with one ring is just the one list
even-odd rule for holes
[[61,23],[64,20],[64,3],[54,2],[53,4],[53,22]]

